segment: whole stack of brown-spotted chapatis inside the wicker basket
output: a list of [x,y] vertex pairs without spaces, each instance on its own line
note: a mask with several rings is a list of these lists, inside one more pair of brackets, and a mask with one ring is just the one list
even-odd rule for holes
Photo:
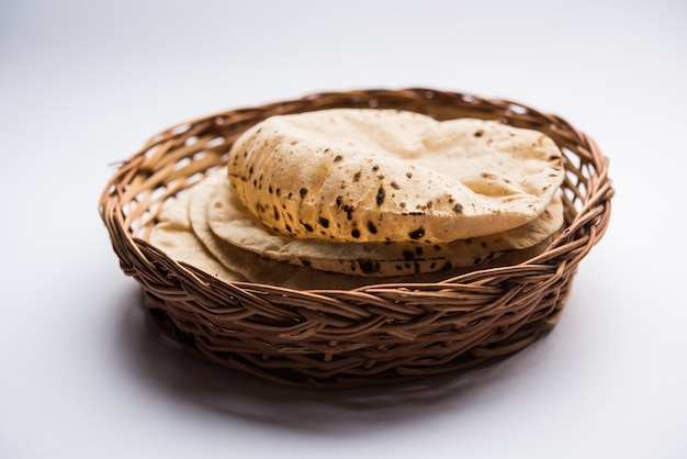
[[563,223],[544,134],[395,110],[272,116],[166,208],[150,242],[225,281],[433,282],[519,262]]

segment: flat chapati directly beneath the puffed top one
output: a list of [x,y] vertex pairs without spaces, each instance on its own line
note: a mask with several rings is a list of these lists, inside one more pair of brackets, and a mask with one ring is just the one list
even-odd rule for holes
[[203,192],[193,194],[192,219],[206,220],[215,236],[266,258],[346,275],[393,277],[474,267],[505,253],[533,247],[563,224],[563,204],[556,194],[536,220],[471,239],[435,244],[300,239],[266,228],[238,201],[224,173],[205,180]]

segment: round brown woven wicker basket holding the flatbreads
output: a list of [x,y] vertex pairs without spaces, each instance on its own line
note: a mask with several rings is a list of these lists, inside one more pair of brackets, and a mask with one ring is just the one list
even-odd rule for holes
[[[299,291],[225,283],[147,243],[174,195],[225,164],[241,132],[274,114],[393,108],[436,119],[497,119],[545,133],[565,156],[564,229],[516,266],[438,283]],[[559,116],[506,100],[429,89],[327,92],[232,110],[171,127],[126,160],[100,199],[125,275],[153,321],[205,359],[279,383],[391,383],[491,363],[558,322],[579,261],[604,235],[613,194],[608,160]]]

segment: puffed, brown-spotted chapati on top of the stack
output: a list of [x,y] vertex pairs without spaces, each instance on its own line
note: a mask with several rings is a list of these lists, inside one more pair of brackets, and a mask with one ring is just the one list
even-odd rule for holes
[[296,238],[426,242],[502,233],[544,212],[565,170],[544,134],[396,110],[271,116],[234,144],[234,193]]

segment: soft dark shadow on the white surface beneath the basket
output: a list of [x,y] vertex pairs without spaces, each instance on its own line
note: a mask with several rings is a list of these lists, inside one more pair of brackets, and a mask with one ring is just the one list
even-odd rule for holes
[[483,402],[489,385],[505,383],[518,357],[403,384],[294,389],[205,362],[180,349],[147,320],[140,303],[137,289],[122,298],[119,334],[125,365],[136,377],[177,402],[281,429],[340,435],[469,410]]

